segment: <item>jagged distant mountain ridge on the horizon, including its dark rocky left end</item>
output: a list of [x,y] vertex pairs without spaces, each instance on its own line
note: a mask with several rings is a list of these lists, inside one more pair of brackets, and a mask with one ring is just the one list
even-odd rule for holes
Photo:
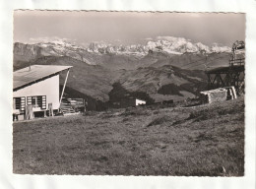
[[[19,49],[22,49],[22,51]],[[183,37],[159,36],[156,39],[148,39],[144,44],[138,43],[129,45],[112,44],[103,41],[91,42],[87,45],[78,45],[74,42],[71,43],[61,39],[29,44],[16,42],[14,44],[14,52],[16,54],[22,54],[24,51],[31,51],[30,56],[32,57],[52,55],[70,56],[87,62],[88,64],[95,64],[87,58],[89,53],[96,55],[110,54],[144,57],[149,54],[149,52],[165,53],[171,56],[184,53],[221,53],[230,52],[231,50],[229,47],[221,46],[217,43],[213,46],[208,46],[201,42],[193,43],[191,40]]]

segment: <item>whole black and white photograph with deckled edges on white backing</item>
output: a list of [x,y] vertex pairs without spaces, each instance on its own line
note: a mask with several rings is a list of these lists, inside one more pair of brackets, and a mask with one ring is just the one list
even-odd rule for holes
[[13,173],[242,177],[245,14],[15,10]]

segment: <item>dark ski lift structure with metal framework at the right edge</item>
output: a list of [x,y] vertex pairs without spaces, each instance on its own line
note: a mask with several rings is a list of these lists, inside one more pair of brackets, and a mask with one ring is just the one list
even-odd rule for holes
[[207,70],[208,90],[233,86],[237,95],[244,94],[245,43],[232,44],[229,65]]

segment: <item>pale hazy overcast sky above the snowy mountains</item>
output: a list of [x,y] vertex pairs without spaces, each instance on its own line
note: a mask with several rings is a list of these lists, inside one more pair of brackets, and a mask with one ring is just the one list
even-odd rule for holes
[[245,15],[223,13],[124,13],[70,11],[15,11],[14,41],[68,38],[123,44],[157,36],[179,36],[207,45],[230,46],[245,40]]

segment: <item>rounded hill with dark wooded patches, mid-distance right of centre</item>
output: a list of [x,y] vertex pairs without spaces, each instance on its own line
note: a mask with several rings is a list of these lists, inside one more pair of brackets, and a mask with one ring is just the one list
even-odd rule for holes
[[[141,91],[151,95],[156,101],[160,101],[194,97],[199,94],[199,91],[206,89],[207,79],[202,70],[191,71],[164,65],[158,68],[140,67],[129,72],[121,70],[118,71],[115,81],[131,92]],[[162,89],[167,86],[176,90],[164,93]]]

